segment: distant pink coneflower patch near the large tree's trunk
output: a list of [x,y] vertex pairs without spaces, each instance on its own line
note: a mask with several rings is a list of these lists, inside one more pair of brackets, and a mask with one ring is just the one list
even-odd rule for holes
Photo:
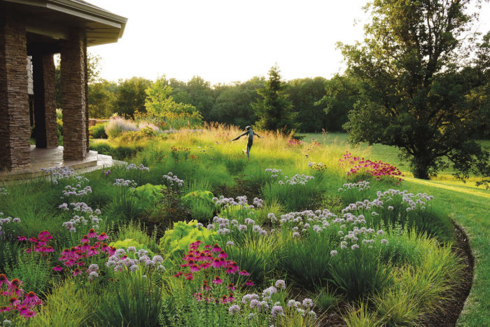
[[367,172],[371,176],[376,177],[376,179],[381,179],[381,176],[395,177],[398,181],[402,181],[402,172],[400,170],[390,165],[386,162],[381,161],[371,161],[369,159],[354,157],[352,153],[346,151],[342,158],[339,159],[339,165],[345,165],[350,167],[347,176],[356,174],[358,172]]

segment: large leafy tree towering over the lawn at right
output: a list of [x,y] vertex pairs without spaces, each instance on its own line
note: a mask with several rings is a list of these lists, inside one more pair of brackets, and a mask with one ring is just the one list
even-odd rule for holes
[[489,153],[471,139],[482,124],[470,95],[476,14],[470,0],[375,0],[364,43],[339,43],[362,98],[345,128],[354,142],[397,146],[415,177],[428,179],[449,162],[457,176],[488,167]]

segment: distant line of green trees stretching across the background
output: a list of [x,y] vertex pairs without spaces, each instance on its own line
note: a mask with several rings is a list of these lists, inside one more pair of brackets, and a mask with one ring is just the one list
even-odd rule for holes
[[[330,80],[315,77],[282,81],[279,68],[272,67],[269,74],[275,74],[276,83],[279,83],[276,85],[281,93],[279,101],[288,106],[288,118],[294,118],[291,120],[294,122],[283,125],[288,119],[284,117],[281,121],[267,125],[259,116],[260,112],[265,114],[264,106],[269,100],[262,100],[265,99],[264,96],[272,96],[275,91],[267,92],[269,80],[265,77],[255,76],[244,82],[217,85],[211,85],[200,76],[194,76],[187,82],[175,78],[167,79],[165,76],[159,78],[158,82],[141,77],[114,82],[99,77],[99,60],[97,56],[89,56],[88,60],[88,101],[91,118],[109,118],[114,113],[125,118],[134,118],[137,111],[146,113],[146,90],[159,83],[172,88],[171,96],[174,102],[195,106],[207,122],[245,127],[262,121],[262,127],[275,127],[273,129],[278,130],[342,132],[342,125],[346,123],[349,110],[358,97],[358,88],[352,78],[337,75]],[[269,79],[271,77],[269,76]],[[60,82],[58,65],[58,85]],[[61,108],[59,92],[57,107]],[[277,112],[269,112],[269,118],[273,120],[276,115]]]

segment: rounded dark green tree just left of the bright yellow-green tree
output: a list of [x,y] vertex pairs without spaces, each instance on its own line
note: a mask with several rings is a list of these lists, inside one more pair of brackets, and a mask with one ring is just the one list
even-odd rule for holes
[[120,80],[113,110],[125,118],[133,119],[135,111],[146,113],[146,89],[150,85],[151,81],[142,77]]

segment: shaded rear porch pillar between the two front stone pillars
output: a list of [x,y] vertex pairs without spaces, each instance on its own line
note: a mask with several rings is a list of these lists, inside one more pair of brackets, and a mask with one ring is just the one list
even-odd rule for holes
[[54,148],[58,146],[55,62],[51,54],[36,54],[32,57],[32,66],[36,147]]

